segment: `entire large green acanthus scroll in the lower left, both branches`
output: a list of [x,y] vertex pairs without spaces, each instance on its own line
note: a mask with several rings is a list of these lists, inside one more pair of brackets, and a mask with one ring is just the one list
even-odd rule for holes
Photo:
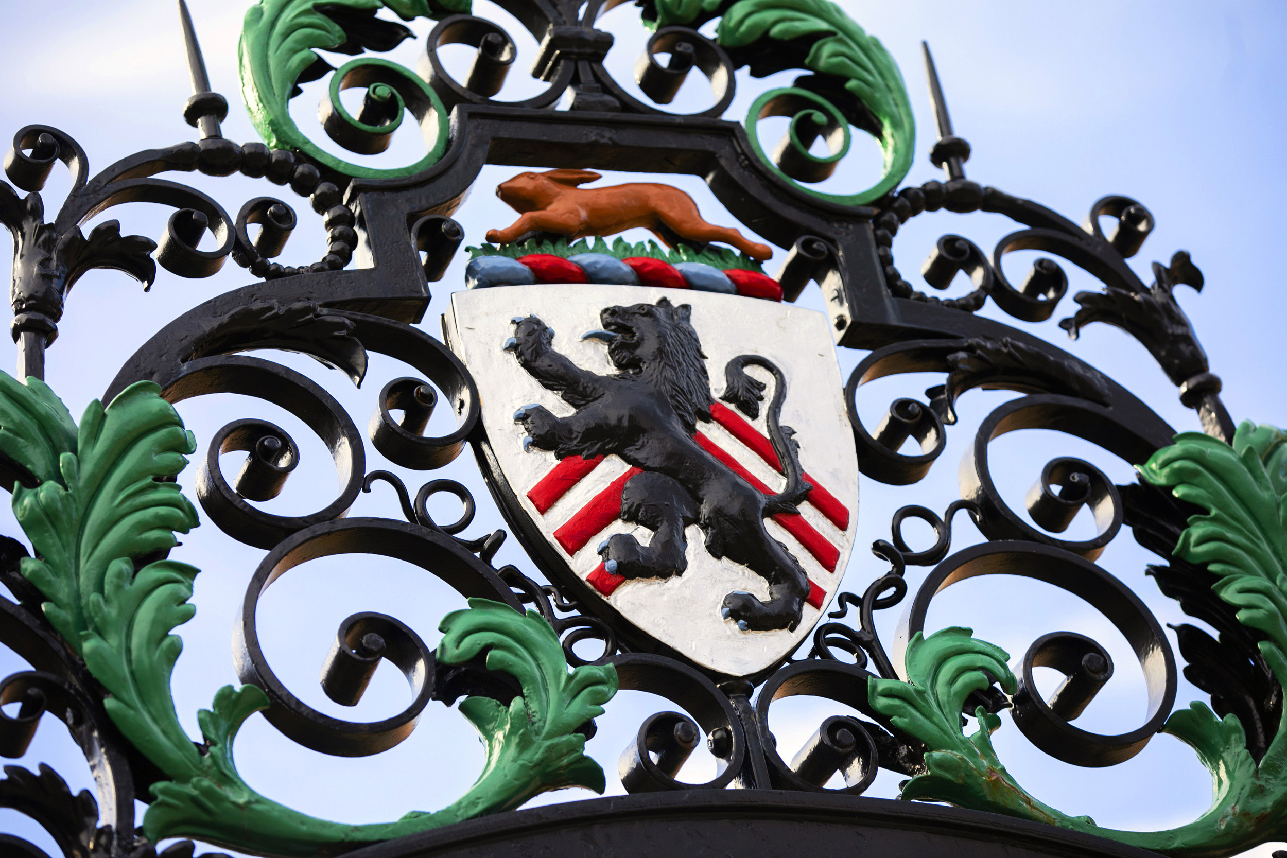
[[512,809],[569,786],[604,790],[604,772],[584,756],[577,732],[602,714],[616,691],[611,665],[569,673],[562,647],[541,615],[471,599],[449,614],[438,659],[458,664],[485,653],[489,669],[514,675],[523,695],[506,707],[467,698],[461,711],[486,746],[483,774],[458,801],[387,823],[317,819],[257,794],[237,772],[233,740],[269,705],[255,686],[227,686],[198,713],[205,744],[179,723],[170,678],[183,642],[171,632],[196,614],[188,602],[197,569],[135,560],[176,545],[174,531],[197,512],[172,481],[196,449],[190,432],[152,382],[138,382],[106,408],[85,409],[80,428],[39,379],[0,373],[0,455],[37,485],[14,485],[13,508],[36,557],[22,574],[45,597],[50,625],[103,684],[108,715],[165,774],[144,816],[149,839],[198,837],[256,854],[342,852],[475,816]]

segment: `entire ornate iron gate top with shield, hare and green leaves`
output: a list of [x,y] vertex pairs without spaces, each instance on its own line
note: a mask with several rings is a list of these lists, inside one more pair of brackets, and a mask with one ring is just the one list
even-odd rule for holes
[[[497,843],[544,836],[566,849],[569,826],[614,835],[618,826],[649,826],[656,817],[647,814],[660,812],[665,828],[645,832],[669,836],[673,826],[676,837],[709,836],[731,816],[745,819],[748,809],[781,825],[739,826],[735,834],[767,839],[755,849],[767,848],[773,831],[804,832],[779,852],[830,836],[816,825],[828,808],[837,813],[830,830],[843,832],[837,852],[852,848],[857,832],[874,837],[876,850],[893,844],[891,854],[900,854],[898,836],[949,845],[973,836],[972,850],[1133,858],[1140,846],[1228,855],[1282,836],[1287,441],[1268,427],[1233,436],[1220,382],[1172,295],[1179,283],[1201,286],[1188,255],[1154,264],[1156,283],[1145,287],[1127,260],[1153,219],[1134,199],[1099,199],[1082,226],[967,179],[970,148],[952,132],[928,48],[938,126],[931,161],[946,178],[897,189],[914,132],[902,77],[880,42],[835,4],[646,0],[642,14],[659,26],[636,81],[653,104],[605,68],[614,35],[596,22],[614,5],[505,0],[539,44],[529,64],[516,63],[517,44],[502,27],[467,14],[459,0],[260,0],[246,15],[239,59],[246,100],[269,145],[238,145],[221,136],[228,105],[210,91],[180,0],[194,90],[184,118],[198,141],[140,152],[90,176],[85,153],[62,132],[19,131],[5,169],[32,196],[0,188],[0,220],[15,226],[22,244],[15,331],[22,376],[36,377],[0,376],[0,479],[14,488],[35,551],[27,556],[22,543],[0,538],[0,580],[18,599],[0,599],[0,641],[33,669],[0,682],[0,753],[23,754],[42,713],[64,722],[94,769],[102,818],[44,771],[10,771],[0,804],[14,804],[15,790],[31,791],[31,816],[53,819],[63,830],[55,840],[75,858],[151,858],[152,844],[170,836],[283,857],[366,846],[396,855],[450,849],[484,830]],[[395,15],[440,19],[420,75],[381,58],[359,57],[338,69],[323,58],[391,50],[411,35]],[[712,36],[692,28],[716,18]],[[457,81],[439,49],[461,46],[476,53]],[[506,75],[524,67],[548,86],[520,102],[499,98]],[[713,107],[689,116],[655,107],[673,102],[694,68],[709,80]],[[810,72],[750,99],[749,135],[721,120],[743,68],[752,76]],[[336,141],[378,153],[409,111],[429,139],[425,157],[371,169],[305,139],[290,102],[324,75],[332,77],[319,116]],[[350,87],[366,90],[360,111],[344,107]],[[556,109],[565,95],[568,109]],[[789,117],[788,132],[770,154],[754,126],[775,116]],[[831,175],[852,129],[880,139],[880,180],[855,194],[810,190]],[[830,152],[811,153],[819,138]],[[68,166],[72,192],[45,224],[35,192],[55,160]],[[443,278],[465,239],[453,216],[483,165],[529,170],[499,189],[519,220],[471,237],[481,246],[468,248],[467,288],[450,296],[443,342],[429,333],[436,319],[413,324],[434,306],[427,284]],[[580,167],[700,176],[737,224],[704,220],[691,197],[651,178],[577,188],[600,175]],[[205,194],[153,179],[162,171],[241,172],[290,185],[322,217],[324,256],[302,266],[272,261],[299,225],[284,202],[254,197],[232,219]],[[158,246],[121,237],[116,221],[81,232],[104,208],[135,199],[178,208]],[[708,212],[709,205],[701,201]],[[991,255],[955,233],[933,246],[921,277],[945,292],[968,278],[958,297],[916,291],[893,264],[900,226],[934,211],[986,211],[1021,225]],[[1100,219],[1116,223],[1102,228]],[[636,226],[667,248],[607,243]],[[206,232],[218,248],[199,248]],[[501,243],[484,244],[484,237]],[[770,244],[789,248],[776,277],[761,266]],[[1103,282],[1102,295],[1076,297],[1081,309],[1064,327],[1075,333],[1104,320],[1136,336],[1210,437],[1181,435],[1172,445],[1175,430],[1112,378],[1033,332],[978,313],[991,298],[1013,319],[1044,322],[1067,293],[1068,278],[1051,259],[1037,259],[1012,283],[1003,261],[1013,251],[1063,257]],[[360,265],[345,270],[355,255]],[[149,283],[156,262],[207,277],[229,256],[255,282],[192,307],[152,337],[112,382],[103,397],[111,404],[93,404],[77,428],[39,378],[75,277],[97,265]],[[790,306],[815,280],[825,316]],[[870,350],[843,394],[833,341]],[[411,369],[381,379],[373,412],[358,419],[323,381],[274,363],[270,352],[279,350],[308,354],[354,383],[382,364],[368,360],[372,351]],[[857,401],[862,386],[925,372],[941,383],[923,399],[896,399],[869,432]],[[846,590],[858,472],[892,485],[918,482],[970,415],[958,410],[960,397],[978,388],[1017,396],[981,421],[959,471],[960,498],[897,508],[889,542],[873,545],[888,570],[880,565],[865,585]],[[234,630],[243,684],[221,688],[198,714],[202,741],[194,745],[170,689],[181,648],[174,632],[196,610],[198,574],[167,557],[175,534],[197,522],[175,482],[194,439],[172,405],[207,394],[248,394],[299,418],[329,454],[340,490],[315,512],[278,515],[260,504],[275,503],[301,462],[311,464],[317,444],[296,443],[259,418],[227,422],[208,439],[197,500],[225,535],[266,554]],[[444,417],[450,419],[439,431]],[[1142,468],[1144,484],[1116,486],[1107,468],[1059,455],[1040,470],[1024,516],[992,479],[988,445],[1033,428],[1097,445]],[[502,545],[512,543],[506,530],[475,526],[475,513],[488,509],[466,476],[430,475],[417,489],[405,473],[368,466],[367,440],[390,467],[413,471],[443,468],[472,444],[526,558],[498,566]],[[241,471],[225,476],[227,454],[236,453],[245,454],[236,457]],[[364,493],[377,482],[387,484],[380,490],[393,491],[404,520],[367,516]],[[1163,485],[1179,485],[1180,497],[1167,497]],[[435,520],[443,495],[461,507],[454,521]],[[960,512],[985,542],[952,545]],[[1095,535],[1063,535],[1084,513]],[[909,520],[928,525],[933,544],[912,549]],[[1167,632],[1122,579],[1093,562],[1124,524],[1166,562],[1149,567],[1162,593],[1219,635],[1176,629],[1185,675],[1211,695],[1210,709],[1172,711],[1178,670]],[[956,534],[974,538],[974,530]],[[393,616],[358,611],[340,623],[322,673],[332,702],[358,704],[375,673],[390,669],[385,661],[407,680],[411,702],[378,722],[333,717],[296,696],[269,665],[256,625],[266,620],[256,611],[273,581],[342,554],[409,563],[468,605],[443,620],[436,651]],[[905,574],[914,566],[933,569],[909,597]],[[1054,584],[1122,632],[1144,675],[1142,726],[1099,735],[1076,723],[1120,657],[1085,634],[1044,634],[1012,670],[1003,651],[965,629],[927,633],[936,593],[995,574]],[[909,619],[887,651],[876,614],[905,597]],[[851,607],[856,617],[846,623]],[[1063,673],[1064,684],[1042,697],[1035,668]],[[507,814],[544,790],[610,786],[584,751],[618,686],[674,706],[645,718],[620,756],[616,771],[631,795]],[[849,711],[824,718],[795,751],[782,741],[786,732],[771,729],[771,706],[788,696],[822,697]],[[373,825],[317,819],[260,795],[238,773],[234,740],[256,713],[308,749],[360,756],[405,740],[435,700],[461,701],[486,754],[479,781],[435,813]],[[991,745],[1006,707],[1036,749],[1077,765],[1120,763],[1166,724],[1212,769],[1216,803],[1192,825],[1160,832],[1112,831],[1064,814],[1028,795]],[[716,774],[695,783],[696,767],[685,767],[703,740]],[[853,803],[878,767],[910,777],[905,799],[1044,827],[970,810]],[[135,789],[152,798],[142,828]],[[610,813],[601,813],[605,807]],[[906,830],[882,823],[876,831],[871,813],[906,819]],[[476,819],[484,814],[497,816]],[[407,835],[416,836],[385,843]],[[653,846],[636,836],[616,843],[627,853]],[[731,840],[721,845],[734,848]],[[190,858],[192,849],[175,844],[165,858]]]

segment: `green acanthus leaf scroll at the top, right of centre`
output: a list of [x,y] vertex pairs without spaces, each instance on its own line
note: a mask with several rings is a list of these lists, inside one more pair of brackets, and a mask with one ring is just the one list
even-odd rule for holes
[[[772,53],[775,48],[764,45],[766,41],[779,42],[779,53],[788,46],[804,46],[804,68],[837,81],[843,93],[856,100],[857,109],[844,112],[825,93],[795,86],[764,93],[752,104],[746,114],[752,147],[801,190],[830,202],[861,206],[884,197],[907,175],[916,139],[907,86],[880,40],[869,36],[837,4],[830,0],[653,0],[649,5],[658,26],[696,26],[722,15],[716,41],[734,54],[755,46]],[[757,68],[755,63],[763,62],[757,57],[752,72],[770,71],[767,66]],[[773,66],[771,71],[779,69]],[[870,116],[857,116],[858,112]],[[755,132],[755,123],[771,116],[793,117],[776,158],[767,156]],[[870,127],[873,117],[879,126],[884,154],[884,169],[876,184],[858,193],[833,194],[795,181],[816,183],[829,176],[848,153],[849,125]],[[828,141],[830,154],[810,153],[816,136]]]

